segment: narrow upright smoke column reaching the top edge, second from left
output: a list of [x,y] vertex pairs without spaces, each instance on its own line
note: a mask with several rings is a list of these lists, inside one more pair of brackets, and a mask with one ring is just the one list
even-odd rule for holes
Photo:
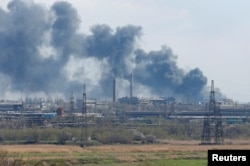
[[77,11],[66,2],[56,2],[51,10],[55,15],[51,26],[51,43],[60,50],[60,56],[62,56],[60,59],[67,61],[69,54],[79,51],[76,49],[79,45],[83,47],[82,36],[76,33],[80,26],[80,19]]

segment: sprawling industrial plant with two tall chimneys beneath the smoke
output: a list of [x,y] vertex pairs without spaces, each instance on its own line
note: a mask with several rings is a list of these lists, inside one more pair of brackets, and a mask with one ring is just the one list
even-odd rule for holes
[[[112,101],[88,98],[86,90],[83,90],[83,96],[78,97],[75,97],[72,92],[68,99],[1,100],[0,117],[2,120],[10,121],[22,119],[26,126],[62,125],[64,127],[79,127],[82,123],[94,125],[96,120],[105,121],[110,117],[119,124],[144,122],[150,117],[161,117],[165,120],[196,120],[200,123],[204,122],[202,144],[211,144],[211,123],[215,123],[215,126],[218,126],[216,130],[222,133],[222,123],[246,123],[250,116],[248,104],[239,104],[231,99],[215,100],[213,81],[209,101],[194,103],[182,103],[174,97],[136,97],[133,94],[132,74],[129,97],[116,99],[118,90],[116,87],[116,79],[113,79]],[[215,143],[219,144],[221,141]]]

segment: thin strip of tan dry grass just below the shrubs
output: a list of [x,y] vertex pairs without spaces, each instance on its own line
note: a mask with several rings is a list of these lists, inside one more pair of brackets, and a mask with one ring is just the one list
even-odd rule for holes
[[245,141],[238,141],[238,144],[225,145],[203,145],[198,143],[185,144],[150,144],[150,145],[103,145],[90,146],[81,148],[73,145],[0,145],[0,149],[9,153],[88,153],[88,152],[112,152],[112,153],[128,153],[128,152],[172,152],[172,151],[207,151],[209,149],[250,149],[250,144]]

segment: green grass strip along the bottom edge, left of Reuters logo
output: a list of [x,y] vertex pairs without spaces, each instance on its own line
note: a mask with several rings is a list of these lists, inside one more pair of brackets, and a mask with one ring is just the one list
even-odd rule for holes
[[23,165],[131,165],[131,166],[202,166],[207,164],[206,152],[72,152],[8,154],[20,158]]

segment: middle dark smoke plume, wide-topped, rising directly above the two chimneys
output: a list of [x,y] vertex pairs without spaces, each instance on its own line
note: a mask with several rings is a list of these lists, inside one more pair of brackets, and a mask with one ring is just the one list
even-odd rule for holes
[[114,76],[128,75],[126,58],[135,49],[135,41],[141,35],[141,27],[128,25],[118,27],[113,32],[108,25],[96,25],[91,32],[92,35],[87,37],[88,54],[97,58],[107,58]]

